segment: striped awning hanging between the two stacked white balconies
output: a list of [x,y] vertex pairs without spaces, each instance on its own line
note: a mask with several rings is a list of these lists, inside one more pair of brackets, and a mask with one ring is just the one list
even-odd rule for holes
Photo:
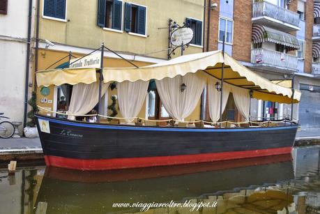
[[298,39],[289,33],[277,31],[260,24],[252,24],[252,43],[271,42],[287,47],[287,50],[299,49]]

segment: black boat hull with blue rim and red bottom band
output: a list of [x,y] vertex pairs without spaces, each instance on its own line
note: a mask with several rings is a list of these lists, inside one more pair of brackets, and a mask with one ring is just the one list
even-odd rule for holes
[[47,166],[107,170],[290,153],[296,125],[273,128],[160,128],[37,116]]

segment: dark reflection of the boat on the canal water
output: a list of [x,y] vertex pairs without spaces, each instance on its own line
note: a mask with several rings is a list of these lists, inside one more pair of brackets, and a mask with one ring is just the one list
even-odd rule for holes
[[[257,206],[256,209],[265,206],[275,212],[289,206],[292,197],[280,190],[254,191],[293,178],[291,155],[116,171],[47,167],[35,209],[45,208],[47,213],[136,213],[139,208],[112,208],[112,205],[192,199],[218,200],[218,208],[203,208],[209,213],[221,213],[243,203]],[[189,210],[176,208],[179,213]],[[167,213],[168,208],[162,208],[162,212]]]

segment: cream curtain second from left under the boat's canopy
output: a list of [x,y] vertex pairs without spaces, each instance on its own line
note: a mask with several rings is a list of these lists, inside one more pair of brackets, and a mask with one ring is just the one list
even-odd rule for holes
[[[118,84],[119,109],[123,117],[136,117],[144,104],[149,82],[138,80],[136,82],[120,82]],[[125,119],[127,123],[133,119]]]

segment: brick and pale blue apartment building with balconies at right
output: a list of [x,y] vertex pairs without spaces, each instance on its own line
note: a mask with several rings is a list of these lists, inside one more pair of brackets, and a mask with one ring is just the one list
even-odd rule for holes
[[[299,119],[302,128],[319,128],[317,1],[211,0],[207,7],[205,49],[222,49],[225,34],[225,52],[243,65],[284,86],[291,87],[294,79],[302,98],[292,118]],[[291,105],[263,100],[252,100],[251,105],[252,119],[291,119]],[[228,111],[230,119],[241,120],[232,102]]]

